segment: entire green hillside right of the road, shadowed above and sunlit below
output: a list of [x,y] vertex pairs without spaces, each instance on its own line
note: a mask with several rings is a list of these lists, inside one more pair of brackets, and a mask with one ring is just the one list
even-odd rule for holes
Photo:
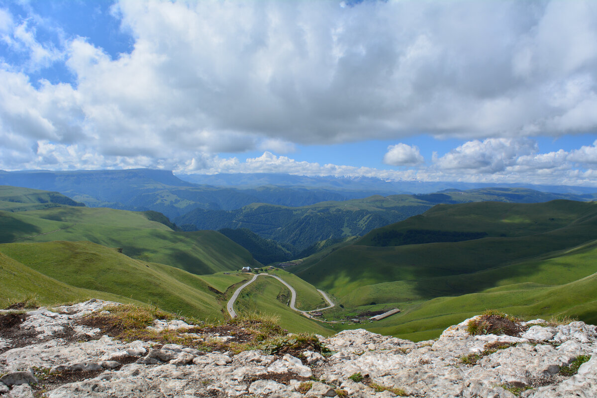
[[[595,323],[596,215],[596,203],[564,200],[437,206],[374,230],[321,261],[307,260],[298,275],[329,288],[346,307],[330,312],[402,308],[365,327],[414,340],[437,337],[487,308],[527,319],[567,314]],[[376,234],[413,229],[485,232],[487,237],[373,246]]]

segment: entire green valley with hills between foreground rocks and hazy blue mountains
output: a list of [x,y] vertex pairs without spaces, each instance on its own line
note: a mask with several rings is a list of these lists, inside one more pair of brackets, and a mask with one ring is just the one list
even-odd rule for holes
[[[4,186],[0,307],[27,297],[48,305],[101,298],[226,319],[235,291],[256,278],[238,292],[234,311],[275,314],[294,332],[366,328],[427,340],[487,308],[595,323],[597,206],[561,195],[482,188],[195,209],[202,223],[224,227],[218,232],[183,231],[153,209],[88,207]],[[257,220],[275,232],[254,232]],[[284,270],[270,266],[290,260],[296,265]],[[288,286],[257,274],[288,283],[296,310]],[[325,309],[301,314],[317,308]],[[401,312],[368,320],[393,308]]]

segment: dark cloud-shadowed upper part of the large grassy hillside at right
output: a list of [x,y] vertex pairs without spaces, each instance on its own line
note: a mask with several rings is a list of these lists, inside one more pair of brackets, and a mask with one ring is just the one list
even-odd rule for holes
[[[388,231],[430,228],[485,232],[489,237],[383,247],[364,244]],[[426,278],[506,266],[593,239],[597,239],[597,205],[593,202],[440,205],[424,215],[375,230],[319,261],[305,261],[293,272],[339,298],[362,286],[399,280],[420,280],[411,286],[416,294],[425,295],[430,289]]]

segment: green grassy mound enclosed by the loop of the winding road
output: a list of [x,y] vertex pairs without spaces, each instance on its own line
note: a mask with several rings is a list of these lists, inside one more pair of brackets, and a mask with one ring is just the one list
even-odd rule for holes
[[290,301],[290,291],[286,286],[272,277],[259,277],[242,290],[235,303],[235,310],[239,314],[255,312],[277,315],[280,317],[280,325],[293,333],[310,332],[321,335],[332,333],[331,329],[291,310],[287,305],[288,301]]

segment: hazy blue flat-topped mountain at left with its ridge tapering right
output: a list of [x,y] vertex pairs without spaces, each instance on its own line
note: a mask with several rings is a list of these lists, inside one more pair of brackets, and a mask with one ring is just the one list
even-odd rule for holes
[[151,169],[0,171],[0,184],[57,191],[91,207],[158,211],[168,218],[197,208],[233,210],[251,203],[305,206],[378,193],[307,186],[216,187],[180,180],[171,171]]

